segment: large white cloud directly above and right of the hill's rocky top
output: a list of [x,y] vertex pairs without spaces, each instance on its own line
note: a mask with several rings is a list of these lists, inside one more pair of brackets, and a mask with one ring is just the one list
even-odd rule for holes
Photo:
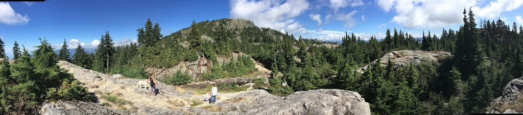
[[231,18],[252,20],[256,26],[289,33],[304,30],[300,22],[294,21],[294,18],[309,8],[309,2],[304,0],[285,3],[275,0],[231,0],[230,3]]

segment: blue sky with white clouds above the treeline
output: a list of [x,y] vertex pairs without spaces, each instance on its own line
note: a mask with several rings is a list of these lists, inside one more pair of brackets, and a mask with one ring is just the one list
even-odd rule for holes
[[[30,51],[47,38],[55,48],[65,39],[70,48],[94,48],[109,31],[117,45],[135,42],[147,18],[168,35],[191,21],[221,18],[252,20],[260,27],[294,36],[339,40],[345,31],[362,39],[384,37],[397,28],[415,37],[442,28],[457,30],[463,8],[472,7],[477,21],[502,19],[523,25],[521,0],[231,0],[231,1],[46,1],[0,2],[0,37],[10,56],[14,41]],[[12,57],[12,56],[10,56]]]

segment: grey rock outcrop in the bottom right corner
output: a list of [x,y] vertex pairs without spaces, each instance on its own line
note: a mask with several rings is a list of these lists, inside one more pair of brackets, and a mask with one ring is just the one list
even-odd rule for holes
[[523,77],[508,82],[503,94],[494,99],[491,105],[493,108],[487,108],[492,109],[487,113],[523,113]]

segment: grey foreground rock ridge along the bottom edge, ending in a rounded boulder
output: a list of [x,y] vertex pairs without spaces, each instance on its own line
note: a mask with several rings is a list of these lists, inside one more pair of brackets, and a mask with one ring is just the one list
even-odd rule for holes
[[41,114],[370,114],[369,103],[357,92],[321,89],[295,92],[278,97],[265,90],[238,94],[230,102],[218,103],[218,111],[184,107],[158,109],[151,107],[135,111],[116,110],[96,103],[59,100],[42,106]]

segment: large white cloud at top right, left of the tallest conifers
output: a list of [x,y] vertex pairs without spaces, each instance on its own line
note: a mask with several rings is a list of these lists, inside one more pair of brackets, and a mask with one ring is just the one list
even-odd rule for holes
[[406,28],[442,27],[462,23],[463,8],[476,4],[476,0],[378,0],[378,6],[396,16],[390,20]]

